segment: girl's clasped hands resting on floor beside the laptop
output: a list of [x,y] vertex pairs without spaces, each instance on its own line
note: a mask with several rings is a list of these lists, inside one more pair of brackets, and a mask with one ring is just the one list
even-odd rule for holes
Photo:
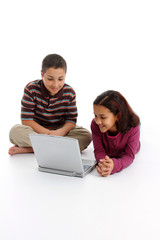
[[101,159],[98,163],[97,172],[102,177],[107,177],[112,173],[112,170],[114,168],[114,162],[111,158],[106,156],[104,159]]

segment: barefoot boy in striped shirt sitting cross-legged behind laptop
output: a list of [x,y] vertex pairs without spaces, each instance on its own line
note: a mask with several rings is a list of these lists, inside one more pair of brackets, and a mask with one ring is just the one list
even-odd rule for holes
[[9,154],[33,152],[30,133],[67,136],[79,141],[80,150],[91,142],[87,129],[76,126],[76,93],[65,83],[66,61],[57,54],[42,61],[41,80],[27,84],[21,107],[21,124],[13,126],[9,137],[15,146]]

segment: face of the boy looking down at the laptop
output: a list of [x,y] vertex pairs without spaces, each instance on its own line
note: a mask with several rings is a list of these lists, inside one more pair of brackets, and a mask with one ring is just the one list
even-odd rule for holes
[[63,87],[66,74],[63,68],[48,68],[44,74],[41,71],[41,76],[47,90],[55,95]]

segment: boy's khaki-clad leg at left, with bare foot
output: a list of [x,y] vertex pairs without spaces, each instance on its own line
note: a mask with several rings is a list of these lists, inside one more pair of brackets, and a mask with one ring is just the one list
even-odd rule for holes
[[11,143],[15,146],[11,147],[8,151],[10,155],[17,153],[33,152],[32,145],[29,139],[29,134],[35,133],[33,129],[26,125],[16,124],[13,126],[9,133]]

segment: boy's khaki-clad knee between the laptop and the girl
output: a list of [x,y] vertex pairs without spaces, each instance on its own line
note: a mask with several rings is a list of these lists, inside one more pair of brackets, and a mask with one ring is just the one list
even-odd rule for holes
[[79,141],[80,151],[83,151],[92,141],[91,133],[83,128],[76,126],[67,135],[67,137],[75,138]]

